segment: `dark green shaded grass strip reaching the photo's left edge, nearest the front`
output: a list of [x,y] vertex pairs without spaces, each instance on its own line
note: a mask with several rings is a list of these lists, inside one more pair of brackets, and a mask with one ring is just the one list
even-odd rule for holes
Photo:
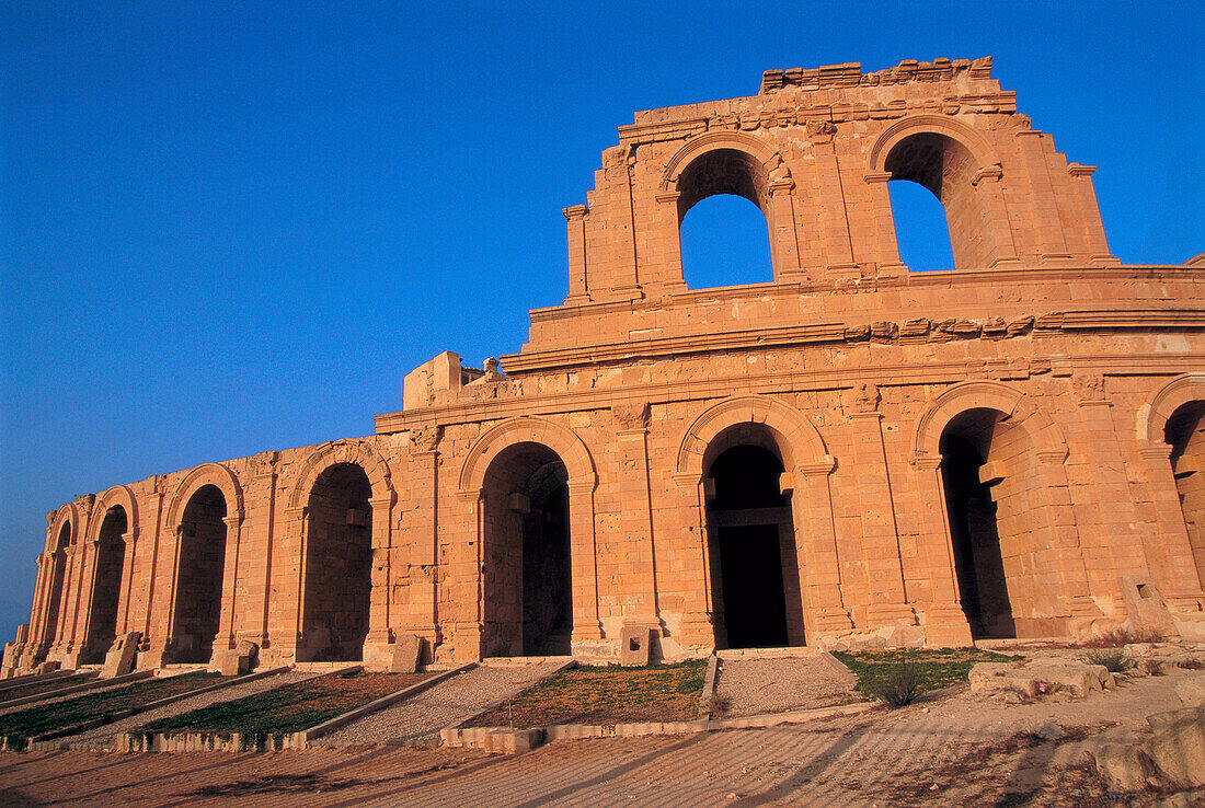
[[169,679],[143,679],[114,690],[30,707],[18,713],[0,715],[0,737],[7,737],[10,745],[23,748],[30,738],[46,732],[65,730],[122,710],[141,708],[160,698],[213,684],[221,678],[217,673],[186,673]]

